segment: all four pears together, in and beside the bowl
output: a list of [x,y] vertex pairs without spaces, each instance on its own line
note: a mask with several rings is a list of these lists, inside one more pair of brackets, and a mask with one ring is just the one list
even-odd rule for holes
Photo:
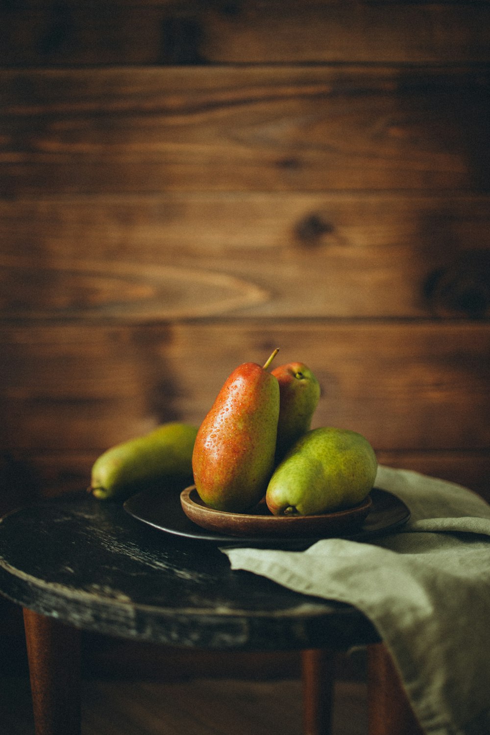
[[207,506],[242,513],[261,501],[275,515],[321,514],[361,503],[378,463],[356,431],[311,429],[320,384],[303,362],[269,370],[245,362],[223,384],[199,429],[170,422],[110,448],[92,468],[88,490],[127,498],[149,485],[192,479]]

